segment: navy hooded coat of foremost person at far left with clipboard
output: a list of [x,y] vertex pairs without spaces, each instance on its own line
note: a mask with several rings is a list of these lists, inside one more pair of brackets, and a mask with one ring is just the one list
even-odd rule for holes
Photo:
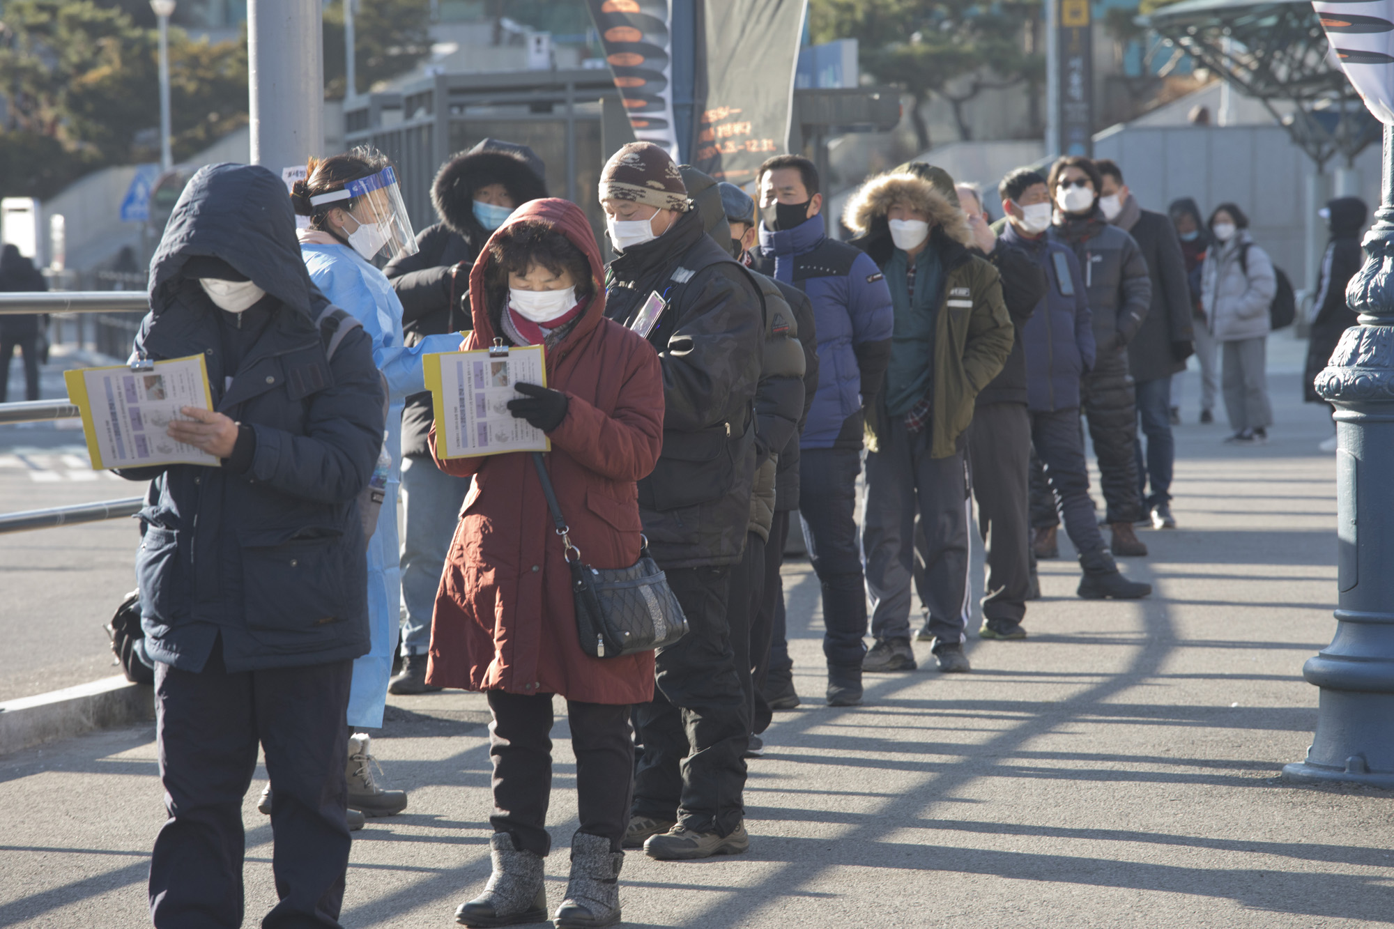
[[[270,318],[234,370],[224,364],[224,329],[240,322],[184,278],[195,255],[222,258],[268,293],[254,310]],[[250,425],[256,441],[244,473],[121,471],[153,478],[135,573],[156,661],[202,671],[219,636],[229,671],[368,650],[357,497],[382,446],[382,379],[361,328],[326,358],[314,321],[328,305],[301,261],[277,176],[212,165],[190,180],[151,261],[151,312],[135,347],[156,360],[202,354],[215,409]]]

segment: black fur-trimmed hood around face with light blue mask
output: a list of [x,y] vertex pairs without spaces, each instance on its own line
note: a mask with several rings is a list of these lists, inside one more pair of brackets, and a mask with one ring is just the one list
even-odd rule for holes
[[431,205],[445,226],[481,248],[489,233],[474,218],[474,191],[503,184],[521,206],[546,197],[541,159],[527,145],[484,139],[441,166],[431,186]]

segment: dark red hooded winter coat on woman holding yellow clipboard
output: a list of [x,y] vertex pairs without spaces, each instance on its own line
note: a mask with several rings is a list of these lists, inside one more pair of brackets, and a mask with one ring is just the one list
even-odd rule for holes
[[[534,199],[502,226],[551,223],[591,264],[595,294],[565,340],[546,352],[546,385],[569,398],[545,455],[572,543],[594,568],[638,561],[636,483],[654,470],[664,435],[664,375],[644,339],[605,318],[604,265],[590,223],[565,199]],[[502,229],[500,227],[500,229]],[[488,247],[470,271],[474,331],[493,343],[500,307],[485,299]],[[435,455],[435,428],[431,453]],[[470,690],[560,693],[585,703],[654,696],[654,653],[592,658],[576,632],[570,572],[531,455],[454,458],[436,464],[474,477],[446,557],[431,624],[427,681]]]

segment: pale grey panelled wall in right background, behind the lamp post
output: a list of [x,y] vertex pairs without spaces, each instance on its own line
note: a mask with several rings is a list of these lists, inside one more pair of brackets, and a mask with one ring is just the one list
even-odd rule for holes
[[[1331,197],[1331,176],[1320,179],[1317,202],[1309,205],[1306,186],[1315,166],[1281,126],[1118,126],[1094,137],[1094,156],[1118,162],[1146,209],[1165,211],[1178,197],[1193,197],[1206,213],[1227,201],[1236,204],[1249,215],[1255,241],[1287,271],[1292,286],[1310,286],[1305,243],[1312,234],[1317,254],[1326,247],[1324,223],[1315,213]],[[1379,145],[1355,159],[1355,190],[1373,212],[1380,199]]]

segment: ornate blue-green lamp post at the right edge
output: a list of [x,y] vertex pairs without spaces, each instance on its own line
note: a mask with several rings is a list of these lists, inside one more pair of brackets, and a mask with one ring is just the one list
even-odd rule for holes
[[1302,677],[1322,688],[1306,759],[1282,769],[1298,784],[1394,788],[1394,127],[1384,127],[1380,208],[1365,236],[1369,259],[1345,289],[1358,326],[1341,336],[1316,378],[1335,406],[1335,637]]

